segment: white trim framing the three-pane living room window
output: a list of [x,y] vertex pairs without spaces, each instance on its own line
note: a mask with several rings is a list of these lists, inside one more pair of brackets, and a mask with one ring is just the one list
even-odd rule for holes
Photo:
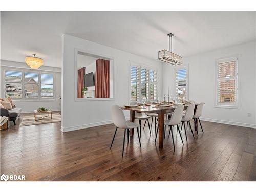
[[[3,70],[3,74],[2,74],[2,86],[3,86],[3,97],[6,97],[6,90],[5,90],[5,72],[6,71],[19,71],[22,72],[22,98],[20,99],[16,99],[13,98],[12,100],[15,102],[38,102],[38,101],[56,101],[56,97],[55,97],[55,77],[56,77],[56,72],[50,72],[50,71],[41,71],[41,70],[32,70],[32,69],[23,69],[23,68],[14,68],[14,67],[6,67]],[[33,98],[33,99],[29,99],[29,98],[25,98],[25,73],[26,72],[30,72],[30,73],[38,73],[38,98]],[[52,74],[53,75],[53,98],[41,98],[41,73],[43,74]]]

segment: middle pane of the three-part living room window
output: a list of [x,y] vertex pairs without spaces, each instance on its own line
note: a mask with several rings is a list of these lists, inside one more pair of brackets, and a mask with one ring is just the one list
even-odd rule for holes
[[24,93],[26,99],[38,98],[38,73],[24,73]]

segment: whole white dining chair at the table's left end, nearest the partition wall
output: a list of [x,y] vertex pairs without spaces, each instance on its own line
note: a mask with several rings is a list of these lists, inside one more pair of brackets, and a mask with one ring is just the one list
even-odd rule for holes
[[[117,132],[118,128],[119,129],[124,129],[123,150],[124,150],[126,131],[127,131],[127,134],[128,134],[130,129],[134,129],[134,128],[137,129],[139,143],[140,143],[140,136],[139,136],[139,130],[138,130],[138,127],[140,126],[139,124],[133,123],[133,122],[127,122],[125,120],[125,116],[124,116],[124,113],[123,113],[122,109],[118,105],[113,105],[112,106],[112,108],[111,108],[111,115],[112,115],[112,120],[114,122],[114,125],[116,126],[116,131],[115,131],[114,137],[112,139],[112,143],[111,143],[110,148],[113,145],[113,142],[114,142],[114,139],[115,139],[116,132]],[[141,143],[140,143],[140,149],[141,149]],[[122,151],[122,157],[123,157],[123,151]]]

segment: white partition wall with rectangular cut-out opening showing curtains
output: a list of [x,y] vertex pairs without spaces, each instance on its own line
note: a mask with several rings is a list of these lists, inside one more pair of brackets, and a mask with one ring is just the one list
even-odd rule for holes
[[[115,99],[75,101],[75,49],[95,55],[115,58]],[[110,109],[114,104],[129,103],[129,61],[153,66],[158,70],[159,93],[162,87],[162,64],[134,54],[96,44],[91,41],[62,36],[62,122],[63,132],[111,123]],[[125,113],[129,116],[129,113]]]

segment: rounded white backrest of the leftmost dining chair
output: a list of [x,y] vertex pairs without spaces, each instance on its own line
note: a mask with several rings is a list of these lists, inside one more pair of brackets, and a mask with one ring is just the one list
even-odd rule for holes
[[115,126],[118,128],[127,128],[125,116],[120,106],[113,105],[111,107],[111,116]]

